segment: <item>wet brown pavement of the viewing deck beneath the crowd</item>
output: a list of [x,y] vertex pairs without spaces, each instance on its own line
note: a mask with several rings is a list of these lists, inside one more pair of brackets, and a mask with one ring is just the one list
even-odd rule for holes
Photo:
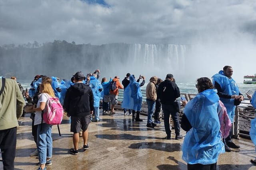
[[[52,166],[48,170],[186,170],[182,160],[181,140],[166,140],[163,121],[154,129],[146,127],[146,116],[143,122],[133,122],[131,116],[124,116],[116,111],[114,115],[100,113],[100,122],[89,125],[88,145],[90,149],[82,149],[80,137],[78,155],[69,154],[73,147],[72,133],[67,117],[60,125],[61,136],[57,126],[52,127],[53,155]],[[36,170],[38,159],[29,156],[36,149],[31,134],[29,115],[20,119],[23,123],[18,127],[17,149],[15,158],[16,170]],[[181,134],[185,132],[181,130]],[[246,139],[234,140],[241,146],[240,150],[220,154],[217,170],[256,170],[250,159],[256,157],[255,146]],[[0,169],[3,169],[0,162]]]

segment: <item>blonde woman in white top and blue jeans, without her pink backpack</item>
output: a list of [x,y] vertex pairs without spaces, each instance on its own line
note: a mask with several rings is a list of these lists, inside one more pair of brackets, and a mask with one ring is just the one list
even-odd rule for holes
[[38,103],[36,108],[32,111],[36,111],[34,125],[38,125],[37,128],[37,150],[38,160],[40,167],[38,170],[46,170],[46,165],[52,165],[52,125],[46,124],[42,121],[42,111],[46,107],[46,101],[48,98],[55,97],[54,90],[48,82],[40,84],[40,95],[38,96]]

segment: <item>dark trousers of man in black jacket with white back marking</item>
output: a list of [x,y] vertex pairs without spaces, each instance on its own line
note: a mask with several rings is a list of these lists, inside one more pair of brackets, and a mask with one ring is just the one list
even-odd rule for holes
[[165,129],[167,137],[171,137],[170,114],[172,115],[172,120],[173,120],[174,128],[175,128],[175,134],[180,135],[180,122],[179,122],[177,108],[174,105],[162,104],[162,109],[164,112],[164,129]]

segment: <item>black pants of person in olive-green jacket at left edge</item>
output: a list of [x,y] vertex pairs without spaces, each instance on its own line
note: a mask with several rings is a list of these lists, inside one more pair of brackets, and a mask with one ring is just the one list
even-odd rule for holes
[[14,158],[17,143],[17,127],[11,129],[0,130],[0,149],[4,170],[14,169]]

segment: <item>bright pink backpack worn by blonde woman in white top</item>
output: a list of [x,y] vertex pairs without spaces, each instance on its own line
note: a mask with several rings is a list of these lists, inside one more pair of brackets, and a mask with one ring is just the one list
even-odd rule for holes
[[46,101],[43,120],[49,125],[59,125],[63,119],[64,109],[58,98],[50,97]]

